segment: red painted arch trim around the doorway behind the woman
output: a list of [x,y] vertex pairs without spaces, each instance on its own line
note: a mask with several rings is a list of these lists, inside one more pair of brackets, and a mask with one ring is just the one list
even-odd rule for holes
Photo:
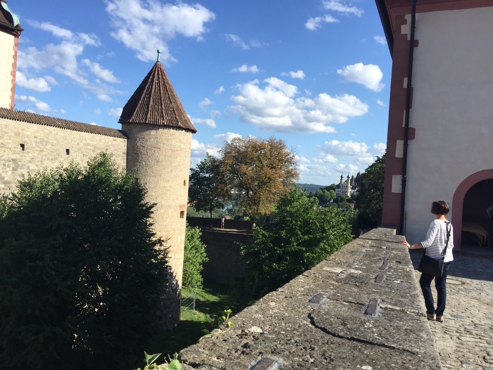
[[[453,234],[453,249],[461,250],[461,232],[462,231],[462,211],[464,206],[464,197],[469,189],[483,180],[493,179],[493,169],[483,170],[473,173],[466,177],[457,187],[452,198],[452,226],[456,232]],[[457,230],[460,230],[459,232]]]

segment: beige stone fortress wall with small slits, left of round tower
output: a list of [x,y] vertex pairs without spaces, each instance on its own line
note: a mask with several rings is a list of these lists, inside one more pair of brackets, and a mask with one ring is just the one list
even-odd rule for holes
[[14,190],[17,179],[28,172],[70,161],[84,165],[103,151],[111,153],[118,167],[124,169],[126,145],[123,138],[0,118],[0,194]]

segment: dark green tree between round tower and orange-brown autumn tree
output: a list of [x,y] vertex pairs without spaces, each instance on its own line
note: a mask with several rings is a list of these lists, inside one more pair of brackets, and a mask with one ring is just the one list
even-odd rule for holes
[[211,218],[214,210],[222,209],[231,199],[231,189],[221,181],[219,170],[219,161],[209,154],[190,169],[188,200],[196,211],[209,212]]

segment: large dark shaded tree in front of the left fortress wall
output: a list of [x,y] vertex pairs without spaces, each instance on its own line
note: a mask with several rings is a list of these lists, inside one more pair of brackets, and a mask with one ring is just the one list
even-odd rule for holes
[[145,194],[103,153],[2,198],[3,369],[98,368],[141,352],[172,276]]

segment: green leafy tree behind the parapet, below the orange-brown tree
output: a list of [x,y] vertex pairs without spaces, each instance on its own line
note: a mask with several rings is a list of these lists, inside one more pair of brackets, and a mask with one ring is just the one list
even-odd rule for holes
[[321,212],[316,203],[292,189],[279,200],[273,221],[254,229],[254,243],[241,246],[253,294],[278,288],[352,240],[345,217],[334,208]]

